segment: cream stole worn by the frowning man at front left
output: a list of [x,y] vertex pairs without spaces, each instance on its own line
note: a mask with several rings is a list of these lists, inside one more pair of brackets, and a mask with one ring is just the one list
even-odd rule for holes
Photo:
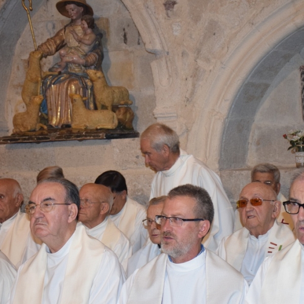
[[[46,247],[43,244],[39,252],[26,261],[19,275],[13,304],[42,302],[47,268]],[[103,257],[103,250],[104,245],[88,236],[83,225],[77,226],[69,250],[60,301],[62,304],[89,302],[90,290]]]

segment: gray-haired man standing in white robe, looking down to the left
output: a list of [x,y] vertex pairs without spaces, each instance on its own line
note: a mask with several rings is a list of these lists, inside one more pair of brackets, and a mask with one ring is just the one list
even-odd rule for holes
[[215,251],[225,236],[233,233],[234,211],[220,178],[204,163],[179,148],[176,132],[163,124],[149,126],[140,136],[140,149],[145,165],[156,171],[151,184],[150,199],[167,195],[182,184],[203,187],[214,205],[214,221],[204,246]]

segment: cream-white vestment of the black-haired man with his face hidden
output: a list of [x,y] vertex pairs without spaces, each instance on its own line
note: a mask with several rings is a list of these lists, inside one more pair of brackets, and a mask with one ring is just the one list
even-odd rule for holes
[[127,197],[123,209],[118,214],[109,215],[112,222],[129,239],[132,253],[139,250],[146,241],[147,231],[142,224],[142,220],[146,218],[146,213],[142,205]]

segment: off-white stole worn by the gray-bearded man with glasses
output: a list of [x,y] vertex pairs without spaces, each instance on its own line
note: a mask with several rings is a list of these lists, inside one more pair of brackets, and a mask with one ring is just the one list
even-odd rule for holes
[[[215,253],[205,250],[206,303],[239,303],[244,287],[243,276]],[[127,304],[162,304],[167,261],[168,255],[161,253],[138,270]]]

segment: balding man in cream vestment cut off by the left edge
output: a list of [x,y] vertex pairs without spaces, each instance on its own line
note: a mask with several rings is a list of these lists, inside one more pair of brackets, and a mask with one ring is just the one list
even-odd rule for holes
[[0,179],[0,250],[16,269],[40,248],[29,229],[29,218],[20,211],[23,201],[21,187],[12,178]]

